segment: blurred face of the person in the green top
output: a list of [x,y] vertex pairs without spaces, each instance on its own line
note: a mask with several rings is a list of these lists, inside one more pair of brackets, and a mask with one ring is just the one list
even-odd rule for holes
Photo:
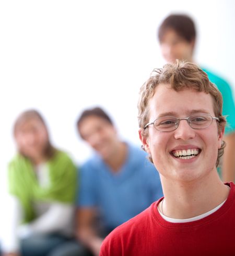
[[15,132],[18,149],[32,160],[43,158],[48,145],[48,133],[41,120],[31,118],[20,125]]

